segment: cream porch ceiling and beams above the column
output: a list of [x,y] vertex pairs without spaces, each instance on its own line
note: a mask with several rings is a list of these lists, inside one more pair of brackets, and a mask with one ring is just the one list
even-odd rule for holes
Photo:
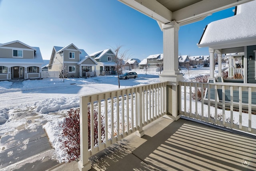
[[203,20],[214,12],[252,0],[119,0],[135,10],[158,21],[160,28],[173,20],[190,24]]

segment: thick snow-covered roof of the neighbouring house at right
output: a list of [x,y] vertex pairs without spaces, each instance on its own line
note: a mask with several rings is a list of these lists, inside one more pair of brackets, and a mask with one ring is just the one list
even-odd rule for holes
[[236,15],[211,22],[206,26],[198,47],[213,49],[256,44],[256,1],[236,8]]

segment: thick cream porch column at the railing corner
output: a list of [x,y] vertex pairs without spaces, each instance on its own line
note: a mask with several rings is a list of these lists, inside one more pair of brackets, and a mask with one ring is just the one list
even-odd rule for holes
[[175,21],[163,24],[163,52],[164,70],[159,76],[160,81],[167,82],[167,114],[173,120],[178,120],[179,115],[179,85],[183,80],[182,74],[178,69],[178,30],[180,25]]

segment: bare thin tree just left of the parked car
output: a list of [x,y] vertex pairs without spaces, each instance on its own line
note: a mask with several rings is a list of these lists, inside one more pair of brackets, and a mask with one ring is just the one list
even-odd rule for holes
[[122,66],[128,60],[128,50],[122,51],[122,46],[116,46],[116,48],[112,48],[113,52],[115,52],[114,62],[116,63],[116,72],[118,78],[118,88],[120,88],[120,79],[119,76],[122,74]]

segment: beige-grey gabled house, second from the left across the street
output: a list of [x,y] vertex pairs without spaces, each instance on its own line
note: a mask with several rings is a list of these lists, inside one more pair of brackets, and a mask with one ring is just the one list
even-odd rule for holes
[[[48,65],[49,71],[59,71],[60,77],[85,77],[96,76],[96,65],[83,49],[78,49],[74,44],[65,47],[54,46]],[[88,72],[86,74],[86,72]]]

